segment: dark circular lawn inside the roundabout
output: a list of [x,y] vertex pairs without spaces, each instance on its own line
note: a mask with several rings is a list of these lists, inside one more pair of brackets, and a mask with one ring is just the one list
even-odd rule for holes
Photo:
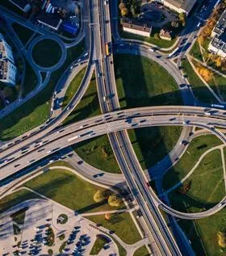
[[37,65],[51,67],[61,59],[61,46],[54,40],[39,41],[32,50],[33,60]]

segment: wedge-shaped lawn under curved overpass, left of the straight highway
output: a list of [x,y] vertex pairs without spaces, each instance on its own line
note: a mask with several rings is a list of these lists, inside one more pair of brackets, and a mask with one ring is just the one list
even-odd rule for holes
[[73,146],[73,149],[91,166],[114,174],[120,173],[107,135],[77,143]]

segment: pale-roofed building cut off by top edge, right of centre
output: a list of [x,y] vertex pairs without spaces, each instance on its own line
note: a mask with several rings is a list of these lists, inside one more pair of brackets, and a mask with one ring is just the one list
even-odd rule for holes
[[186,15],[189,15],[197,0],[157,0],[157,2],[161,2],[164,6],[178,13],[184,12]]

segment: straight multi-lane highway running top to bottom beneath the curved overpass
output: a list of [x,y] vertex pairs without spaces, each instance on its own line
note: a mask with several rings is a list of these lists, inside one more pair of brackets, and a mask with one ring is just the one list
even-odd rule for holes
[[[112,111],[115,109],[119,109],[119,98],[117,95],[117,89],[116,89],[116,83],[115,83],[115,72],[113,68],[113,57],[111,56],[112,46],[111,44],[111,26],[109,26],[108,21],[110,20],[110,13],[109,13],[109,6],[108,4],[103,6],[103,2],[99,2],[99,12],[100,12],[100,24],[101,24],[101,33],[102,33],[102,40],[100,40],[102,48],[102,58],[103,63],[102,69],[103,69],[103,82],[98,81],[98,98],[100,102],[101,109],[104,112]],[[108,24],[108,26],[107,26]],[[95,43],[98,45],[98,41]],[[110,48],[110,51],[105,48],[107,45],[107,48]],[[111,67],[111,69],[110,69]],[[146,206],[143,196],[140,194],[139,187],[137,187],[136,181],[133,178],[132,174],[130,174],[130,170],[132,168],[136,168],[136,170],[140,171],[141,167],[138,161],[136,161],[136,166],[133,166],[133,162],[131,162],[132,158],[136,159],[136,154],[132,150],[132,145],[129,140],[127,132],[114,132],[108,134],[111,147],[115,153],[115,157],[117,162],[119,163],[119,167],[122,170],[126,181],[128,183],[128,186],[130,190],[132,191],[132,194],[134,195],[137,204],[140,206],[140,211],[143,212],[143,216],[146,222],[146,225],[149,227],[149,237],[151,237],[151,241],[155,241],[155,243],[152,244],[153,250],[156,252],[156,254],[161,255],[170,255],[171,251],[172,254],[174,252],[178,252],[178,246],[174,243],[174,238],[171,237],[171,233],[169,230],[167,230],[167,225],[165,225],[165,221],[162,221],[161,213],[158,212],[158,215],[156,215],[157,220],[153,220],[153,212],[150,212],[150,209]],[[124,150],[123,148],[120,148],[120,145],[122,144],[120,141],[127,142],[127,145],[130,145],[128,149]],[[132,156],[132,158],[131,158]],[[142,171],[142,170],[141,170]],[[134,192],[136,191],[136,192]],[[160,225],[158,225],[160,224]],[[159,226],[164,229],[164,232],[161,233]],[[146,227],[144,227],[144,230]],[[166,233],[166,234],[165,234]],[[163,234],[163,236],[162,236]],[[154,237],[154,239],[153,239]],[[173,248],[172,248],[173,247]],[[175,255],[180,255],[178,253],[175,253]]]

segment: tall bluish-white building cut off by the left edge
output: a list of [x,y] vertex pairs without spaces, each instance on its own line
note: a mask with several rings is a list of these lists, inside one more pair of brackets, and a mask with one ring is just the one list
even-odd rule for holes
[[15,86],[16,72],[12,48],[0,34],[0,81]]

